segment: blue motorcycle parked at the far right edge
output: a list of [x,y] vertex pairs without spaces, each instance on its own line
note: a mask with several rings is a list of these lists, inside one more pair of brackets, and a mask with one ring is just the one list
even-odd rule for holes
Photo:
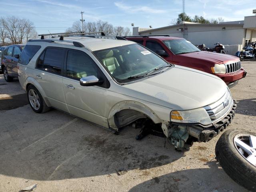
[[255,60],[256,59],[256,42],[252,42],[243,47],[242,51],[236,52],[235,56],[239,57],[240,60]]

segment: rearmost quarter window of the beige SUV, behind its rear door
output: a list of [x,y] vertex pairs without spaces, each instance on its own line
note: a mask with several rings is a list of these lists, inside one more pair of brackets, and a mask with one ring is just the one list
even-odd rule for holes
[[19,63],[27,65],[40,48],[39,45],[26,45],[20,55]]

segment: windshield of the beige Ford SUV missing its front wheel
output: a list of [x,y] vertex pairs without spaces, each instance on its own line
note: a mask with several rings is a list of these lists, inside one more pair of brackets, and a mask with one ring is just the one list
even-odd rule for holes
[[166,61],[140,44],[130,44],[94,51],[96,57],[117,81],[142,77],[156,68],[168,65]]

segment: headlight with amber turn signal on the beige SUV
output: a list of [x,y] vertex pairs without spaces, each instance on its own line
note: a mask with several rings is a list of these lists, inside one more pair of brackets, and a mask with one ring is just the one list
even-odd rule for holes
[[172,111],[171,121],[180,123],[200,123],[202,125],[209,125],[212,123],[210,116],[204,108],[184,111]]

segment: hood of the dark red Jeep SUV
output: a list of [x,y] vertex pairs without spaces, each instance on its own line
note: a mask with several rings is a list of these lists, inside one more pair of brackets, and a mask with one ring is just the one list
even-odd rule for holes
[[222,63],[239,60],[239,58],[237,58],[236,56],[222,54],[222,53],[209,52],[209,51],[185,53],[185,54],[180,54],[179,56],[212,61],[212,62],[214,62],[214,64],[222,64]]

